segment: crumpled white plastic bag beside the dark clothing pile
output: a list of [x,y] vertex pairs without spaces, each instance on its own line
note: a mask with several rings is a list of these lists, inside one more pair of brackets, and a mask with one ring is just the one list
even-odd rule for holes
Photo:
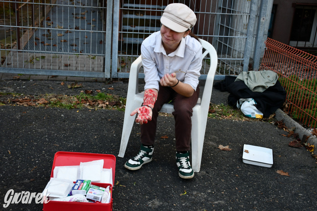
[[263,118],[263,113],[259,110],[257,110],[256,101],[253,98],[240,98],[237,101],[237,107],[241,109],[242,113],[251,118]]

